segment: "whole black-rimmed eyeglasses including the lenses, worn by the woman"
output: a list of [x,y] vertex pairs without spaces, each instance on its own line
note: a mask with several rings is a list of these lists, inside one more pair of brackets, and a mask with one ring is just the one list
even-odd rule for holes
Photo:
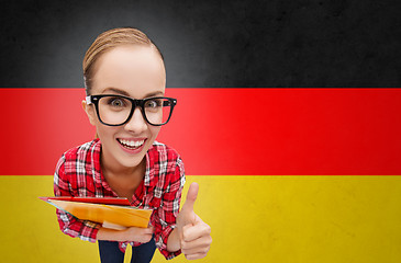
[[99,121],[109,126],[126,124],[135,108],[141,107],[144,119],[153,126],[161,126],[170,121],[172,110],[177,104],[176,99],[154,96],[135,100],[124,95],[89,95],[87,104],[94,104]]

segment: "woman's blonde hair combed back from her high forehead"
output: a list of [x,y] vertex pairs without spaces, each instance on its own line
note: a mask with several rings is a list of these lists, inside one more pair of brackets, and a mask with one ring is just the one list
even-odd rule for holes
[[149,46],[152,48],[155,48],[156,52],[160,55],[161,59],[164,59],[157,46],[147,37],[145,33],[137,28],[120,27],[103,32],[94,39],[92,45],[89,47],[89,49],[85,54],[82,61],[85,89],[88,95],[90,94],[92,79],[96,71],[96,61],[104,53],[111,50],[114,47],[123,45]]

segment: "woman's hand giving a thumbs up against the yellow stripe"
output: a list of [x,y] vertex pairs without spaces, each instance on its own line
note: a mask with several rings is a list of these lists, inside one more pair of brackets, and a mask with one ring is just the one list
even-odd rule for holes
[[189,186],[186,203],[177,217],[180,248],[187,260],[204,258],[212,242],[210,226],[193,211],[198,191],[199,185],[197,183]]

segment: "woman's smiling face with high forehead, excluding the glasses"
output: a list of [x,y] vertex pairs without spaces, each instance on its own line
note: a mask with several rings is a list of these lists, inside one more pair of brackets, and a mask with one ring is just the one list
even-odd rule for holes
[[[91,95],[119,94],[145,99],[165,93],[164,62],[160,55],[149,46],[115,47],[99,58],[94,70]],[[141,164],[160,127],[146,123],[140,107],[121,126],[101,124],[93,104],[83,104],[83,107],[102,142],[102,167],[112,171],[124,171]]]

